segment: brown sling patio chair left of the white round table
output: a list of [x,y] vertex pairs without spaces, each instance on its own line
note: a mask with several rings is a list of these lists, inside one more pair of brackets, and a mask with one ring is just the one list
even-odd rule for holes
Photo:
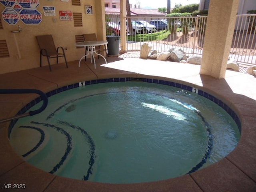
[[[56,49],[52,35],[40,35],[40,36],[36,36],[36,39],[38,42],[38,46],[40,48],[40,67],[42,67],[42,56],[46,56],[50,71],[52,71],[51,65],[50,65],[50,60],[49,60],[51,58],[56,58],[56,61],[58,63],[58,58],[64,57],[65,62],[66,62],[66,67],[68,68],[68,63],[66,60],[64,48],[58,47]],[[62,53],[59,53],[59,49],[62,50]]]

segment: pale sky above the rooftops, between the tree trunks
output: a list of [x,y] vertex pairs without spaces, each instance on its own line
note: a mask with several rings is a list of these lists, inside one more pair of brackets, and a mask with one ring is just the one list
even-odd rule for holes
[[[167,8],[167,0],[129,0],[130,4],[132,4],[132,7],[134,7],[134,4],[136,4],[137,1],[140,2],[140,8]],[[199,4],[199,1],[200,0],[171,0],[171,8],[174,8],[175,4],[181,3],[182,6],[184,6],[194,3]]]

